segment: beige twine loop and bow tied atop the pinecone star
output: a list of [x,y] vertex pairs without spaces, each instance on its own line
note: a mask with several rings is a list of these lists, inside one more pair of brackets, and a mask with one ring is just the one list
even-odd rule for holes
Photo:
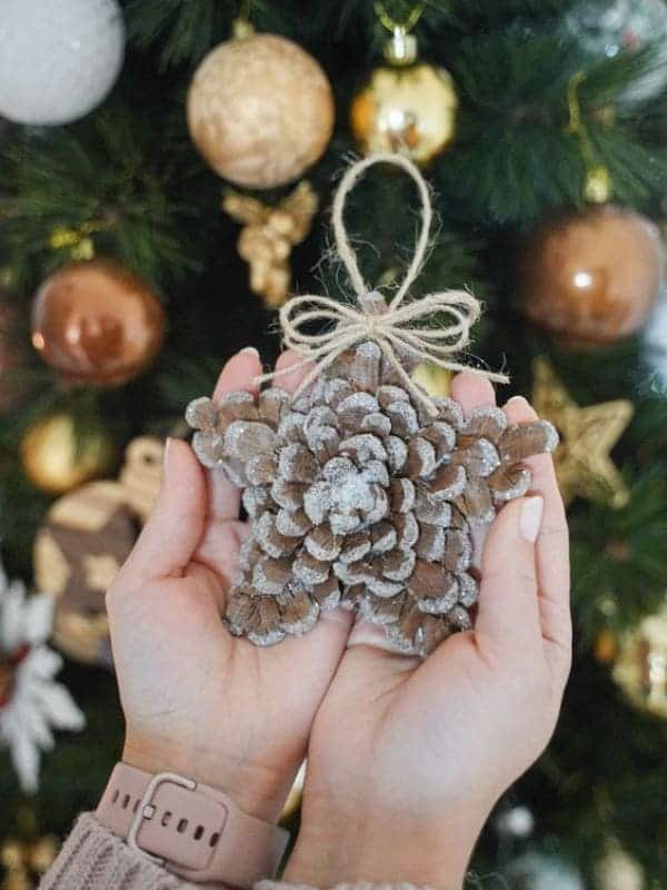
[[[362,174],[376,164],[394,164],[414,179],[421,200],[421,227],[415,254],[401,285],[388,305],[377,291],[371,290],[359,270],[357,256],[350,245],[344,222],[347,197]],[[336,249],[350,277],[358,305],[342,304],[330,297],[307,294],[292,297],[280,310],[283,344],[303,356],[303,360],[282,370],[256,378],[257,384],[273,380],[312,363],[293,397],[297,398],[345,352],[360,343],[376,343],[387,364],[396,372],[405,388],[428,411],[437,414],[437,406],[410,377],[400,355],[418,362],[430,362],[451,372],[469,370],[497,383],[507,383],[504,374],[471,368],[451,360],[448,356],[464,349],[470,342],[470,328],[480,315],[479,301],[467,290],[445,290],[406,303],[410,287],[417,279],[429,246],[432,206],[424,177],[417,167],[402,155],[378,152],[354,164],[342,177],[334,199],[334,235]],[[381,308],[378,308],[381,306]],[[429,327],[434,315],[448,318],[447,324]],[[303,326],[311,322],[334,323],[321,334],[308,334]],[[421,323],[419,325],[418,323]]]

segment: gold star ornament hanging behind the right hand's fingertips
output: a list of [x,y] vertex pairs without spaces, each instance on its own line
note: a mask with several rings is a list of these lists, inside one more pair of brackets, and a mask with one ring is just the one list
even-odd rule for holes
[[615,508],[625,506],[629,491],[609,452],[630,423],[635,412],[633,403],[616,399],[581,408],[547,359],[537,358],[532,404],[560,433],[554,462],[565,503],[583,497]]

